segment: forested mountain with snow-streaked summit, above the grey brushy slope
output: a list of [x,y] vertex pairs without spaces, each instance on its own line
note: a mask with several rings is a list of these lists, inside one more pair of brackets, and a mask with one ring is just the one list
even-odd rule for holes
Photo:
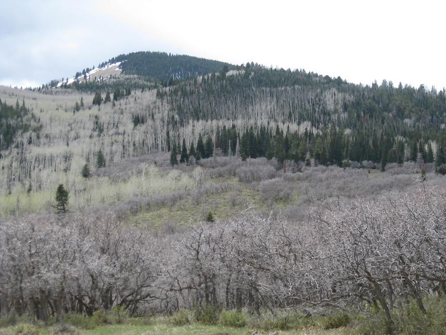
[[25,181],[36,169],[80,170],[99,150],[109,166],[174,147],[179,153],[183,140],[202,158],[215,146],[222,155],[280,164],[442,166],[445,96],[423,86],[386,80],[363,86],[252,62],[121,55],[62,84],[2,89],[2,189],[13,187],[11,176]]

